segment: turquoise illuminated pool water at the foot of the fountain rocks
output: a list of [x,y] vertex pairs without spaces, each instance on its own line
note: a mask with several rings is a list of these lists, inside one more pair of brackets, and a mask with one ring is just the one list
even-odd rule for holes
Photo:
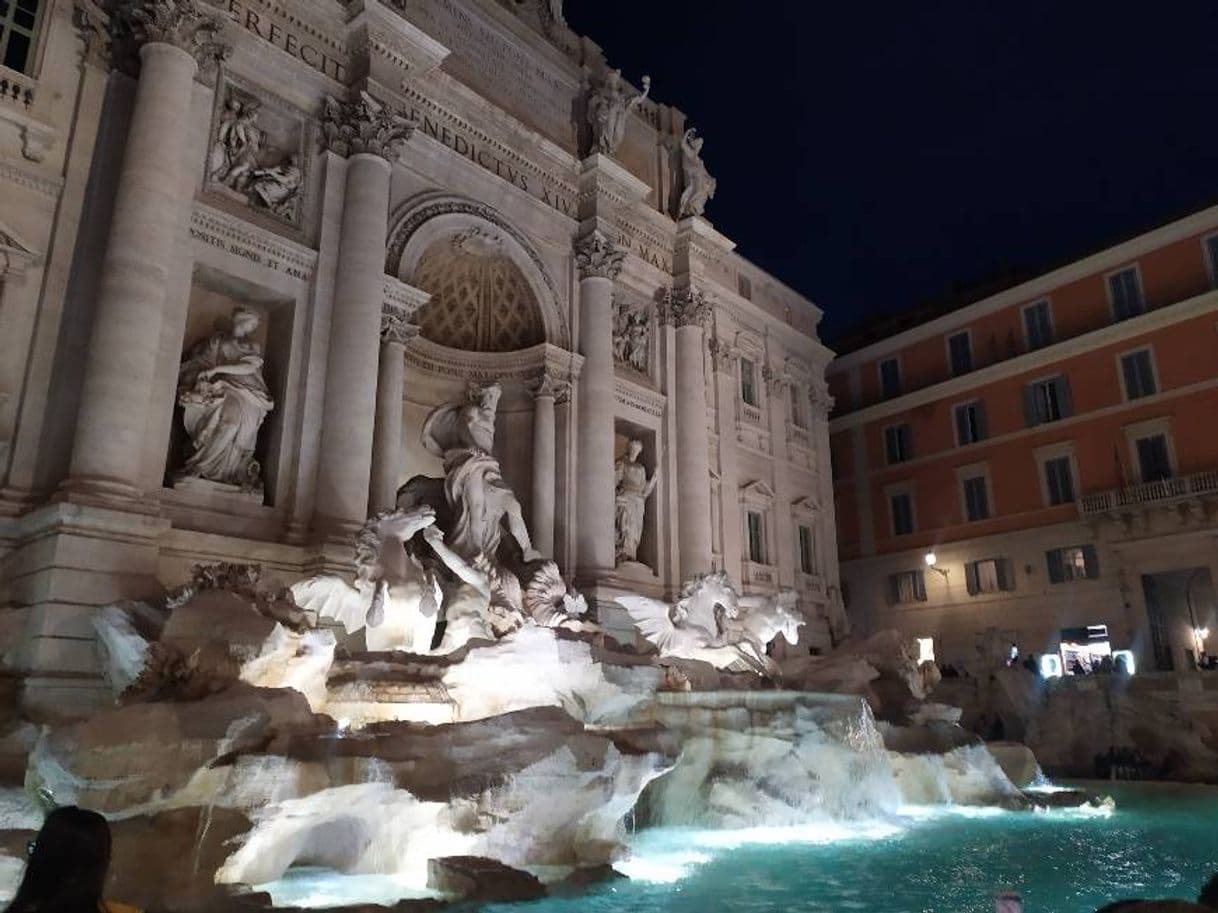
[[[1218,789],[1095,784],[1110,816],[906,810],[862,839],[761,831],[639,835],[631,881],[487,913],[990,913],[1023,892],[1027,913],[1089,913],[1121,897],[1196,897],[1218,870]],[[833,842],[822,841],[837,836]],[[794,840],[795,842],[786,842]]]

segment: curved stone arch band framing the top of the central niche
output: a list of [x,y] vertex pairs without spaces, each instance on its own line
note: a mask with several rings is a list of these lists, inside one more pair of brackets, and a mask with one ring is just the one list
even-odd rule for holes
[[429,252],[445,241],[471,239],[493,245],[519,270],[541,314],[544,342],[571,346],[570,329],[558,287],[536,248],[497,209],[453,195],[428,195],[407,201],[392,218],[385,271],[410,285]]

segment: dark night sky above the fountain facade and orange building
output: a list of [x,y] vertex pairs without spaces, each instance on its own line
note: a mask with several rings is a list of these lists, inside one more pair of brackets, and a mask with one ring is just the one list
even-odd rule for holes
[[1218,2],[566,0],[829,341],[1218,202]]

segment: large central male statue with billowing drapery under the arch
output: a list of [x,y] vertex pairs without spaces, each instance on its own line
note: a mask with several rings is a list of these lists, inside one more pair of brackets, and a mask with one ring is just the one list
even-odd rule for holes
[[452,547],[469,561],[498,560],[504,525],[525,561],[541,558],[525,527],[520,502],[491,454],[501,396],[498,383],[470,385],[464,402],[437,407],[423,424],[424,448],[443,459],[445,499],[453,514]]

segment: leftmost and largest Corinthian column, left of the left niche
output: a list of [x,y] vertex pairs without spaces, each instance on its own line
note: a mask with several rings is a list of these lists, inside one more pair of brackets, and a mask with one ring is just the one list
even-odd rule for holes
[[223,19],[196,0],[135,0],[140,78],[123,150],[84,366],[71,493],[134,500],[145,480],[144,430],[161,352],[168,264],[183,224],[181,194],[195,73],[214,60]]

